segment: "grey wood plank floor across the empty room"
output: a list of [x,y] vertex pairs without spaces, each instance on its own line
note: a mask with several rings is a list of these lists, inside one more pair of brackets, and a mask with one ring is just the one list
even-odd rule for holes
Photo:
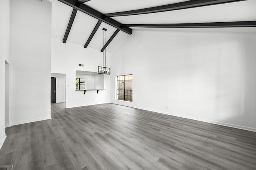
[[64,109],[6,128],[14,170],[256,170],[256,133],[114,104]]

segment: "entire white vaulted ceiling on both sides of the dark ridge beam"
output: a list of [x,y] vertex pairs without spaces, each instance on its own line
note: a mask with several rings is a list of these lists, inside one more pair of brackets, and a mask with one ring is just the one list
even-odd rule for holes
[[[68,21],[73,8],[59,2],[52,2],[52,38],[62,40],[68,26]],[[91,0],[85,4],[106,14],[126,10],[136,10],[170,3],[183,2],[184,0]],[[222,21],[253,21],[256,20],[256,0],[247,0],[199,8],[189,8],[169,12],[153,14],[142,14],[134,16],[112,17],[123,24],[130,23],[196,23],[196,22],[222,22]],[[82,45],[86,43],[98,20],[80,11],[70,30],[67,42]],[[103,47],[103,30],[107,30],[107,40],[114,33],[116,28],[101,23],[98,31],[88,45],[90,48],[100,50]],[[231,31],[256,33],[256,27],[251,28],[132,28],[133,30],[159,30],[159,31]],[[125,39],[128,34],[119,31],[113,41],[108,45],[107,51],[111,52],[116,45]]]

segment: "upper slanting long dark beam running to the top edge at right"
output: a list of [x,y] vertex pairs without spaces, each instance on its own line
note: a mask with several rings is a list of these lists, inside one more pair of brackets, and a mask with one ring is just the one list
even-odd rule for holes
[[155,12],[182,10],[186,8],[196,8],[200,6],[209,6],[209,5],[224,4],[224,3],[238,2],[238,1],[244,1],[244,0],[190,0],[190,1],[179,2],[175,4],[156,6],[152,8],[143,8],[139,10],[130,10],[130,11],[124,11],[124,12],[114,12],[114,13],[105,14],[105,16],[115,17],[115,16],[150,14]]

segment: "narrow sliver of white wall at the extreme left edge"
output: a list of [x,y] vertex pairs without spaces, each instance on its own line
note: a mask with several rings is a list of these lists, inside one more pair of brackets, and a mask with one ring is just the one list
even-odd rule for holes
[[10,0],[0,1],[0,149],[6,135],[5,125],[5,61],[9,61]]

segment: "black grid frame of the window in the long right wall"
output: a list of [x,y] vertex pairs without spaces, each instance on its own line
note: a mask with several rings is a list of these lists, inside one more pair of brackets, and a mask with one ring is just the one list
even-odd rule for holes
[[[120,79],[118,80],[118,77],[122,77],[124,76],[124,84],[122,86],[124,86],[124,89],[118,89],[118,81],[120,82]],[[128,76],[128,79],[127,81],[131,81],[131,84],[126,84],[126,76]],[[129,77],[131,77],[131,79],[129,79]],[[120,75],[120,76],[116,76],[116,100],[121,100],[121,101],[126,101],[126,102],[132,102],[133,101],[133,88],[132,88],[132,80],[133,80],[133,75],[132,74],[126,74],[126,75]],[[120,86],[120,84],[119,84]],[[130,90],[126,90],[126,86],[131,86]],[[118,96],[120,96],[120,91],[119,90],[123,90],[124,91],[124,95],[121,95],[121,96],[124,96],[124,100],[122,99],[119,99]],[[119,93],[118,93],[119,91]],[[129,92],[130,95],[126,95],[126,92]],[[127,96],[130,96],[130,100],[127,100],[126,97]]]

